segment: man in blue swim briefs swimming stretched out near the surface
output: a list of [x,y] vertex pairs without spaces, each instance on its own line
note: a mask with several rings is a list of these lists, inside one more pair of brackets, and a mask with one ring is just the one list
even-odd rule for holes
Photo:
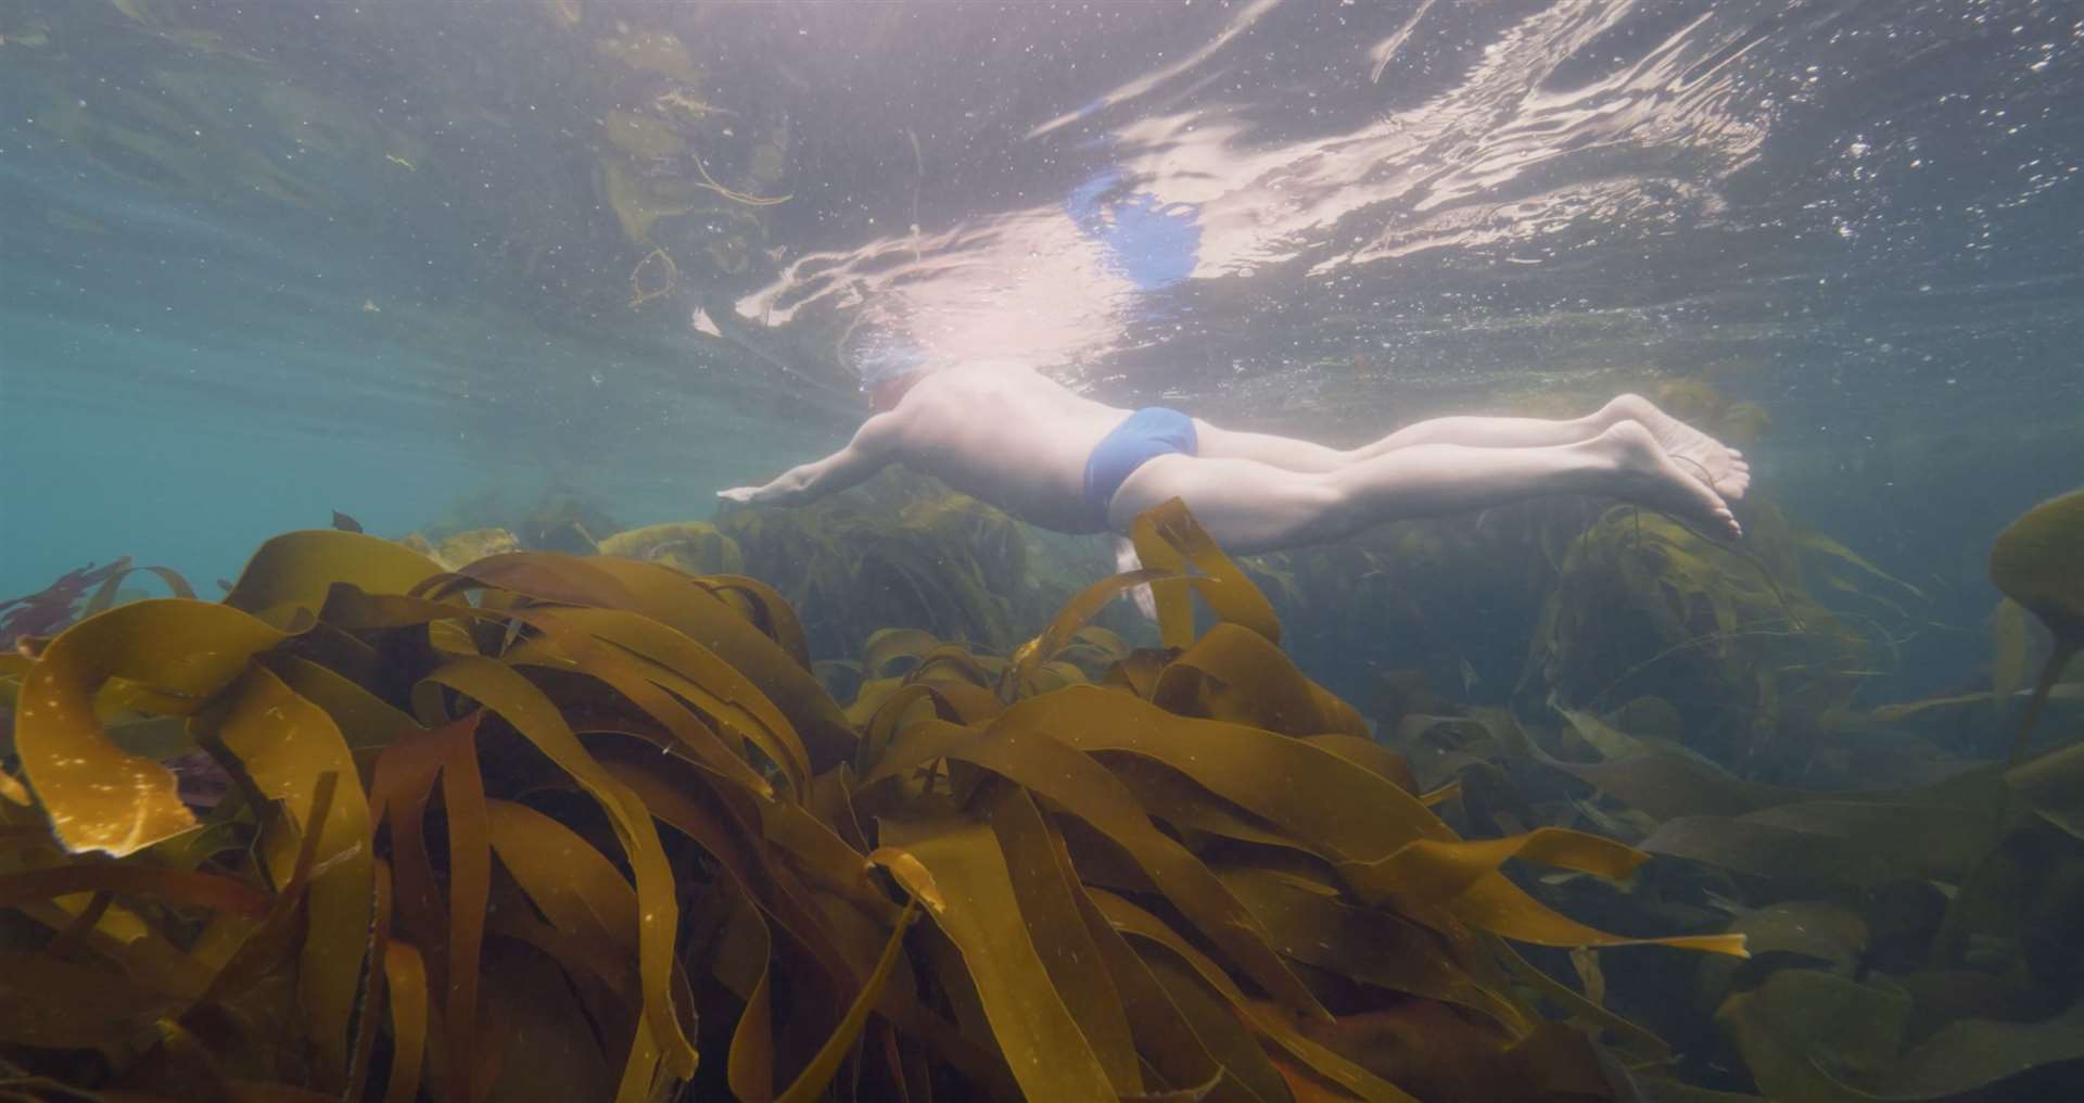
[[877,413],[838,452],[717,496],[798,505],[902,463],[1057,532],[1125,534],[1184,498],[1223,550],[1248,555],[1544,494],[1607,494],[1734,540],[1728,500],[1751,484],[1736,448],[1634,394],[1573,421],[1440,417],[1346,450],[1123,411],[1013,363],[915,369],[869,396]]

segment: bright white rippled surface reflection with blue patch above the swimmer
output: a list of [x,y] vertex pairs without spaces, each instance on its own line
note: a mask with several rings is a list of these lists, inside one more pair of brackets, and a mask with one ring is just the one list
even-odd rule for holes
[[[1290,79],[1328,106],[1438,90],[1344,129],[1313,127],[1317,108],[1265,119],[1265,90],[1238,73],[1267,46],[1252,31],[1271,8],[1244,6],[1186,58],[1029,129],[1032,144],[1102,156],[1061,200],[802,256],[738,313],[788,325],[873,302],[938,357],[1090,365],[1142,344],[1148,323],[1177,325],[1159,292],[1182,281],[1325,281],[1432,250],[1459,267],[1544,265],[1615,234],[1711,225],[1778,113],[1748,71],[1771,21],[1544,4],[1471,52],[1463,38],[1482,27],[1428,2],[1353,50],[1348,73]],[[1436,63],[1459,71],[1438,81]]]

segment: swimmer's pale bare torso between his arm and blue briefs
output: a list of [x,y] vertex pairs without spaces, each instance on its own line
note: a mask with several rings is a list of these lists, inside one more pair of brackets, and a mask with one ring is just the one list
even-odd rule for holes
[[886,446],[907,467],[1029,523],[1098,532],[1084,503],[1086,459],[1127,411],[992,363],[919,379],[886,417]]

